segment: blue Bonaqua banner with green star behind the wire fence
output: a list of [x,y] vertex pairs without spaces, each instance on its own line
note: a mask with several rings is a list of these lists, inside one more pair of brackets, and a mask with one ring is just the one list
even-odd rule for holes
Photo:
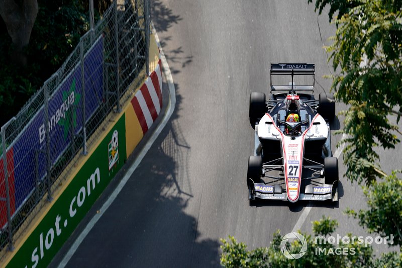
[[[48,100],[48,118],[42,106],[15,139],[15,207],[18,210],[34,191],[36,184],[46,176],[46,134],[49,130],[50,161],[54,165],[63,157],[74,137],[81,133],[85,103],[85,120],[98,111],[104,99],[103,40],[99,38],[84,55],[85,86],[81,65],[71,72],[51,92]],[[85,93],[84,93],[85,91]],[[85,95],[85,100],[82,96]],[[18,191],[17,191],[18,190]]]

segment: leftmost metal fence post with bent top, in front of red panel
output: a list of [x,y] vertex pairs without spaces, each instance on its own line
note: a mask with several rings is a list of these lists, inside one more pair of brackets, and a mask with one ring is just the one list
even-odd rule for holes
[[6,182],[6,205],[7,205],[7,228],[9,233],[9,247],[8,250],[13,251],[13,230],[11,225],[11,204],[10,204],[10,186],[9,186],[9,170],[7,166],[7,150],[6,150],[6,128],[7,126],[16,120],[13,117],[2,127],[2,147],[3,147],[3,169],[4,169],[4,181]]

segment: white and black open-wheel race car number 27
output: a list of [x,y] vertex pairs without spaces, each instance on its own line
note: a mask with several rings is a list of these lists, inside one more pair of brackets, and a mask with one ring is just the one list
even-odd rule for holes
[[[289,85],[273,85],[272,75],[290,75]],[[313,85],[294,85],[294,75],[313,77]],[[271,64],[271,92],[250,95],[255,129],[247,186],[255,199],[338,201],[338,158],[332,157],[330,121],[333,95],[314,97],[315,64]],[[286,120],[290,117],[297,121]],[[293,118],[293,119],[294,119]]]

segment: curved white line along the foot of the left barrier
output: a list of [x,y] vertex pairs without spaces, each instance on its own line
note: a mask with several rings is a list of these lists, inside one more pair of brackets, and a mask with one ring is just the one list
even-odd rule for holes
[[[158,47],[160,49],[160,58],[162,60],[163,72],[165,74],[165,78],[166,78],[167,84],[169,86],[170,102],[168,103],[167,112],[165,114],[165,117],[162,119],[161,123],[156,128],[153,135],[149,138],[149,140],[145,144],[144,148],[138,154],[137,159],[127,170],[127,173],[124,175],[124,177],[120,181],[119,185],[116,187],[115,191],[113,191],[112,195],[104,203],[102,208],[99,209],[100,212],[93,216],[93,218],[86,225],[85,229],[80,233],[78,238],[71,245],[70,249],[64,256],[63,260],[60,262],[59,267],[65,267],[67,265],[68,261],[70,260],[72,255],[75,253],[75,251],[77,250],[77,248],[79,247],[81,242],[84,240],[86,235],[90,232],[90,230],[96,224],[96,222],[100,219],[100,217],[102,217],[102,215],[105,213],[105,211],[110,207],[110,205],[113,203],[113,201],[119,195],[120,191],[122,191],[123,187],[126,185],[127,181],[133,174],[134,170],[138,167],[141,160],[144,158],[145,154],[151,148],[152,144],[154,143],[156,138],[159,136],[159,134],[162,132],[163,128],[166,126],[167,121],[170,119],[171,115],[173,114],[173,110],[176,105],[176,92],[175,92],[175,88],[174,88],[173,78],[172,78],[172,74],[169,69],[169,65],[167,65],[165,54],[163,54],[162,48],[159,43],[159,38],[158,38],[158,35],[156,34],[155,27],[153,24],[152,24],[152,29],[153,29],[153,34],[155,35],[156,43],[158,44]],[[162,90],[162,88],[161,88],[161,90]]]

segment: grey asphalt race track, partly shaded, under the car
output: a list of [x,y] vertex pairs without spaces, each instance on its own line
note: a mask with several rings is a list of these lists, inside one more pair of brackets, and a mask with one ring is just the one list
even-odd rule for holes
[[[247,159],[254,146],[249,95],[269,94],[270,63],[279,62],[315,63],[315,95],[329,91],[323,41],[330,44],[335,25],[329,24],[327,13],[317,19],[307,0],[151,2],[152,21],[173,75],[176,108],[67,267],[219,266],[220,238],[234,235],[249,248],[269,246],[273,232],[291,232],[307,207],[311,210],[303,214],[302,231],[310,232],[311,222],[327,215],[338,219],[341,236],[367,235],[343,213],[347,207],[365,206],[360,187],[346,179],[335,204],[264,202],[250,207],[247,199]],[[166,94],[167,84],[163,86]],[[337,104],[337,112],[342,109]],[[332,129],[342,128],[342,121],[336,120]],[[332,136],[333,152],[340,139]],[[402,166],[401,158],[393,156],[401,153],[400,146],[380,152],[385,170]],[[345,173],[342,155],[339,169]],[[100,206],[102,198],[92,212]]]

